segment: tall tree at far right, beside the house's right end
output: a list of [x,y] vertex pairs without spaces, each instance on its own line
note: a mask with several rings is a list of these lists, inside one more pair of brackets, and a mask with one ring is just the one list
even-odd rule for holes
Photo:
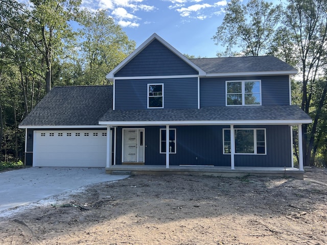
[[317,137],[318,120],[326,100],[324,93],[316,97],[315,94],[319,87],[316,83],[319,77],[326,76],[327,70],[327,1],[288,0],[284,16],[284,25],[295,47],[294,53],[299,61],[297,67],[302,77],[301,108],[310,113],[314,121],[311,126],[302,126],[305,165],[309,165]]

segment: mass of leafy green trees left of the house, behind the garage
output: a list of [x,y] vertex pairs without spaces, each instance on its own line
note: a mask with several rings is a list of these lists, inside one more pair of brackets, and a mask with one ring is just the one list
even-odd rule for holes
[[105,75],[134,50],[106,11],[80,4],[0,0],[0,161],[24,157],[19,122],[52,86],[106,84]]

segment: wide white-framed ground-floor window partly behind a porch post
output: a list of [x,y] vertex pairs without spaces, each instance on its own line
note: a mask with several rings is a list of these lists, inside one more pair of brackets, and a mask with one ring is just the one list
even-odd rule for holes
[[[223,130],[223,153],[230,154],[230,129]],[[266,154],[265,129],[235,129],[235,154]]]

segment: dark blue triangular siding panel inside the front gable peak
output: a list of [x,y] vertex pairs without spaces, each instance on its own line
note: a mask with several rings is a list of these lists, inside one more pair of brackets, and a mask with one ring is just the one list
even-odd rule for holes
[[195,75],[199,72],[156,39],[122,67],[115,77]]

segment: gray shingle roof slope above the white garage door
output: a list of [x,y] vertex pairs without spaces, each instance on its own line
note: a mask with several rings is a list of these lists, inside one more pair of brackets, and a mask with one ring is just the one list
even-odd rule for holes
[[20,123],[24,126],[91,126],[112,108],[112,86],[53,88]]

